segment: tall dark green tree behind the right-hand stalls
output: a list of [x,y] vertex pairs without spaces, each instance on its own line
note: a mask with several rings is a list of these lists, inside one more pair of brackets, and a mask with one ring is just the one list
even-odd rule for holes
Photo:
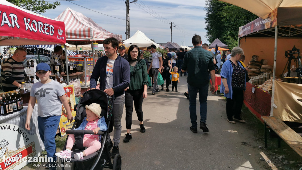
[[219,38],[230,49],[238,46],[239,27],[257,19],[251,12],[218,0],[206,1],[206,30],[209,42]]

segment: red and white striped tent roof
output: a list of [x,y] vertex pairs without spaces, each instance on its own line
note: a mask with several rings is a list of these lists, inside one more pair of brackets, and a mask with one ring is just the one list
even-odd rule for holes
[[100,41],[109,37],[122,41],[122,35],[106,31],[91,18],[71,8],[66,8],[55,20],[65,22],[66,41]]

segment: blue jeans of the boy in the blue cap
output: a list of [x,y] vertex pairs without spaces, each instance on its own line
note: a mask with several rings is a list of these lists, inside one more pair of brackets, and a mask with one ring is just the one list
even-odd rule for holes
[[38,129],[42,142],[44,143],[47,157],[56,160],[56,130],[58,129],[61,116],[38,116]]

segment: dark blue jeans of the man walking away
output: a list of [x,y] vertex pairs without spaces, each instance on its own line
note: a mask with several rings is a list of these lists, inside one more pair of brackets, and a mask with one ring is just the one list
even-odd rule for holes
[[197,128],[197,115],[196,115],[196,97],[197,92],[199,93],[199,114],[200,114],[200,123],[207,121],[207,94],[209,91],[209,84],[200,87],[190,86],[188,84],[188,92],[189,92],[189,110],[190,110],[190,118],[193,128]]

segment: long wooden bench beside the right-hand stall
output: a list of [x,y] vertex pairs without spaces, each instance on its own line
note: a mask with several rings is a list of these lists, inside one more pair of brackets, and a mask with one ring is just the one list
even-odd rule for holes
[[[295,152],[302,156],[302,137],[293,129],[288,127],[281,119],[275,116],[262,116],[264,121],[264,140],[267,147],[267,129],[272,129],[284,142],[286,142]],[[266,126],[269,126],[267,128]],[[280,148],[280,138],[278,138],[278,147]]]

